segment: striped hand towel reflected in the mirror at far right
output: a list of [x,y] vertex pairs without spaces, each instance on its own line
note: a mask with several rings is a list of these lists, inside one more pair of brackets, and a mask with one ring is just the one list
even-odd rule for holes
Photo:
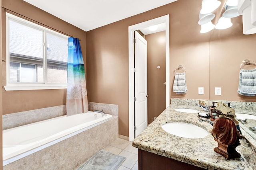
[[252,70],[240,70],[239,86],[237,92],[244,96],[256,94],[256,68]]

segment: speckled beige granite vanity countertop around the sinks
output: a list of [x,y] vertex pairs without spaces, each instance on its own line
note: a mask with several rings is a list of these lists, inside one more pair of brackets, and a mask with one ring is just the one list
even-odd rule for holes
[[[171,104],[132,141],[132,146],[208,170],[253,169],[240,152],[240,150],[244,151],[249,147],[238,146],[236,150],[241,154],[241,157],[226,159],[214,151],[214,147],[218,147],[218,143],[214,141],[214,137],[211,135],[212,125],[204,121],[199,122],[197,113],[182,113],[175,111],[176,108],[191,108],[202,111],[202,108],[198,106]],[[209,135],[199,139],[171,135],[162,129],[162,125],[169,122],[191,123],[204,128]],[[241,141],[245,143],[245,139]]]

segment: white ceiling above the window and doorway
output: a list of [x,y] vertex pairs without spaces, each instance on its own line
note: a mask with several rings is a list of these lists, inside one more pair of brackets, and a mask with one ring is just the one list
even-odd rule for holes
[[176,0],[24,0],[76,27],[90,31]]

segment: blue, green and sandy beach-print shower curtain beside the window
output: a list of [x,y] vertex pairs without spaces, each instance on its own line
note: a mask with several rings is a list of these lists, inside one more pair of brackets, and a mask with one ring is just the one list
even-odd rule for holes
[[84,61],[79,39],[68,38],[67,116],[88,111]]

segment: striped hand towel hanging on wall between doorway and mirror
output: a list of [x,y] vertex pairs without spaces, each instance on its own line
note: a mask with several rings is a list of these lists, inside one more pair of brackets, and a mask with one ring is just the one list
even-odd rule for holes
[[176,73],[173,82],[173,92],[176,94],[184,94],[188,91],[185,72]]

